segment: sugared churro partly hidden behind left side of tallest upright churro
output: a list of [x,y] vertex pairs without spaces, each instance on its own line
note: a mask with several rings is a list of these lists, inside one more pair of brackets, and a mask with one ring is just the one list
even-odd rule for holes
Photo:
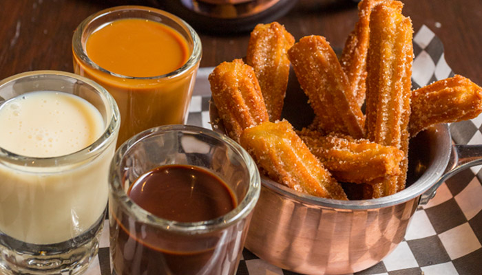
[[370,14],[375,5],[387,0],[362,0],[358,3],[358,22],[348,35],[340,63],[359,106],[365,101],[366,53],[370,34]]

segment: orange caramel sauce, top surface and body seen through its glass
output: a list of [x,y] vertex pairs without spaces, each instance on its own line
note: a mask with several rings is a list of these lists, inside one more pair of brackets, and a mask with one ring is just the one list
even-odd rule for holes
[[94,65],[74,51],[74,72],[114,96],[121,112],[118,145],[154,126],[185,123],[199,65],[176,72],[193,51],[186,34],[156,21],[118,19],[94,30],[83,47]]

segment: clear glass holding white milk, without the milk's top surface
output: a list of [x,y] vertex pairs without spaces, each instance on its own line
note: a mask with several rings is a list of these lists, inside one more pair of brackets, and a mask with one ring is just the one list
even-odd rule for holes
[[0,105],[33,91],[83,98],[98,110],[105,126],[92,144],[59,157],[18,155],[0,144],[0,274],[79,274],[98,251],[118,108],[92,80],[56,71],[1,81]]

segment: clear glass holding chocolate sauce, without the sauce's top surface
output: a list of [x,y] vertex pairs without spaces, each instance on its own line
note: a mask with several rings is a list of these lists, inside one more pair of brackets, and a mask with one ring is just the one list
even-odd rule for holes
[[[129,187],[149,170],[169,164],[217,175],[238,205],[222,217],[196,222],[170,221],[140,208],[127,195]],[[116,274],[235,274],[260,195],[258,168],[240,145],[197,126],[160,126],[118,148],[110,179],[110,252]]]

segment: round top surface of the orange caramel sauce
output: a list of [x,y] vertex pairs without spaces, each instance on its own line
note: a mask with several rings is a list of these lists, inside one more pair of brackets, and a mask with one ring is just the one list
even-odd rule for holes
[[113,21],[92,33],[85,50],[103,69],[123,76],[162,76],[189,57],[187,41],[167,25],[143,19]]

